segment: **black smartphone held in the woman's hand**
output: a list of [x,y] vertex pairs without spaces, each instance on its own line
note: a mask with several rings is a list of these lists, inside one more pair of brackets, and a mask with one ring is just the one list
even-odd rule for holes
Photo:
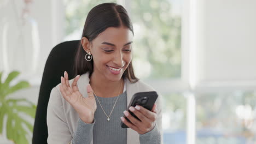
[[[158,94],[155,91],[152,92],[139,92],[139,93],[135,93],[132,96],[132,99],[130,101],[129,106],[127,107],[127,111],[129,111],[131,113],[131,115],[135,118],[137,118],[139,121],[141,121],[138,117],[136,117],[134,115],[134,113],[132,113],[129,110],[130,106],[135,107],[136,105],[140,105],[145,107],[146,109],[148,109],[149,111],[151,111],[153,109],[153,106],[155,104],[156,99],[158,98]],[[127,117],[125,117],[125,115],[123,116],[128,122],[131,122]],[[124,124],[121,121],[121,127],[122,128],[129,128],[127,127],[126,124]]]

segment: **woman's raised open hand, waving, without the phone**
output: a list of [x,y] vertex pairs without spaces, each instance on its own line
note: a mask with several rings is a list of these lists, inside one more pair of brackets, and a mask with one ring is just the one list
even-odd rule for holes
[[77,81],[80,75],[74,78],[72,87],[69,86],[68,74],[65,71],[64,77],[61,76],[60,91],[69,104],[77,111],[80,119],[85,123],[92,123],[94,121],[94,113],[97,109],[94,94],[90,84],[87,86],[88,97],[84,98],[78,91]]

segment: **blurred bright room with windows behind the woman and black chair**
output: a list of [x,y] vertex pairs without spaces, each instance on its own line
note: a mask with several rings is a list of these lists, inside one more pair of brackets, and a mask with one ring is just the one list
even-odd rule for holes
[[[1,83],[18,70],[10,86],[30,86],[8,95],[26,99],[22,111],[6,108],[0,84],[0,143],[13,143],[6,129],[15,128],[31,143],[51,49],[80,39],[88,12],[104,2],[123,5],[132,19],[135,74],[162,94],[164,143],[256,143],[254,0],[1,0]],[[8,116],[25,120],[14,127]]]

